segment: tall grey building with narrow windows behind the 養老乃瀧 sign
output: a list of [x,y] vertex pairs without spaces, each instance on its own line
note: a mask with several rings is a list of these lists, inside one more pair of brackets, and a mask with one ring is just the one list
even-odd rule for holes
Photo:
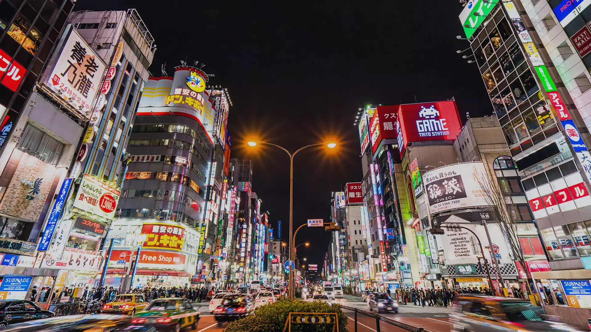
[[74,164],[71,176],[87,173],[120,187],[127,141],[156,51],[154,38],[135,9],[73,12],[68,21],[108,66],[80,147],[85,158]]

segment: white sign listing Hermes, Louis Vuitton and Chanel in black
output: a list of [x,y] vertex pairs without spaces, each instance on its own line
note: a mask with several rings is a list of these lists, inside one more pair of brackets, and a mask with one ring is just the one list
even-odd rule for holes
[[[466,220],[460,219],[456,216],[451,216],[446,220],[443,225],[454,222],[466,222]],[[472,230],[478,236],[478,239],[482,241],[482,250],[485,251],[484,255],[489,262],[491,262],[491,253],[489,252],[488,237],[486,237],[486,230],[484,226],[479,224],[462,224],[462,227],[467,227]],[[501,263],[512,263],[511,257],[509,256],[509,247],[505,242],[505,236],[499,227],[499,224],[487,224],[488,232],[493,240],[493,255]],[[470,238],[473,238],[472,240]],[[475,264],[478,263],[478,258],[474,253],[472,242],[474,243],[477,250],[480,250],[478,245],[478,239],[465,228],[459,230],[459,232],[448,231],[446,229],[444,235],[437,235],[437,243],[441,244],[443,248],[443,256],[445,258],[446,265],[453,264]],[[495,250],[496,249],[496,250]],[[496,253],[498,251],[498,253]],[[480,253],[479,255],[480,256]]]

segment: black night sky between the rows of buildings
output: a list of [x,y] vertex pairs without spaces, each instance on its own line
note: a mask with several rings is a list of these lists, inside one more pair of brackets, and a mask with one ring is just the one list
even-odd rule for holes
[[[270,2],[270,1],[269,1]],[[79,0],[74,10],[137,8],[157,44],[153,76],[180,60],[205,63],[209,84],[228,87],[232,158],[254,162],[253,191],[276,229],[289,229],[289,158],[274,147],[245,148],[257,137],[290,151],[335,139],[339,148],[307,149],[294,161],[294,230],[330,219],[330,194],[361,181],[353,126],[368,103],[397,105],[455,97],[465,113],[492,113],[476,63],[456,50],[462,27],[456,1],[339,1],[259,4],[252,1]],[[428,5],[427,5],[428,3]],[[312,232],[311,230],[314,230]],[[308,263],[322,264],[329,233],[304,228],[296,243]],[[320,266],[319,266],[320,268]]]

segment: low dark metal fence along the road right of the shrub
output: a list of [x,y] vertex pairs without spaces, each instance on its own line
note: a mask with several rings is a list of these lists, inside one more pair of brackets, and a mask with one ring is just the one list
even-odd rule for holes
[[416,327],[392,320],[379,314],[368,313],[357,308],[341,306],[347,315],[349,332],[430,332],[422,327]]

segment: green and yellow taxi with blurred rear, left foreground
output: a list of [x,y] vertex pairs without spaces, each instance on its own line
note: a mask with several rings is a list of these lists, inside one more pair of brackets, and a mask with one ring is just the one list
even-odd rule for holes
[[199,311],[186,298],[159,298],[134,315],[132,324],[150,324],[158,330],[179,332],[183,328],[194,330],[200,319]]

